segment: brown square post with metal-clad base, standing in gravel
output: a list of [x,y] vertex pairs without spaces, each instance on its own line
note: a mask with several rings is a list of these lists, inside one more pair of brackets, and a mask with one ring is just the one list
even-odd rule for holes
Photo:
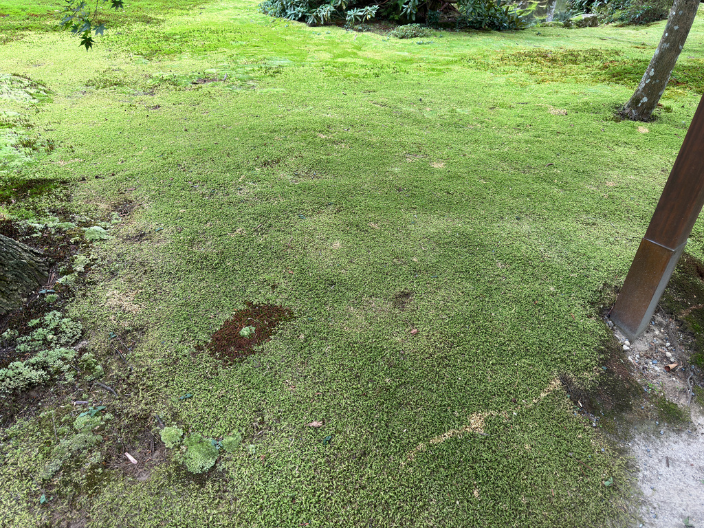
[[611,320],[629,339],[648,326],[703,205],[704,96],[611,310]]

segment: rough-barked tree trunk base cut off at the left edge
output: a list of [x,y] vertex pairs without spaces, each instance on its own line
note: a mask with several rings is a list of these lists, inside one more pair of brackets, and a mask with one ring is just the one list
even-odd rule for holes
[[41,251],[0,234],[0,315],[19,306],[47,276]]

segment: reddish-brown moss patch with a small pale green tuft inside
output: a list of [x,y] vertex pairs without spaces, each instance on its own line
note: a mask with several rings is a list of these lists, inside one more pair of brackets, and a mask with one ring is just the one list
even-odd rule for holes
[[290,320],[294,315],[288,308],[275,304],[246,302],[245,306],[223,322],[205,346],[213,356],[225,363],[234,363],[254,353],[257,346],[271,339],[281,322]]

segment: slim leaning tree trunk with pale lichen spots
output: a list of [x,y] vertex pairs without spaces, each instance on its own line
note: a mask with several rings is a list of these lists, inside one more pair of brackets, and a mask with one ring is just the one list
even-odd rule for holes
[[650,59],[648,69],[643,74],[641,84],[623,108],[619,111],[622,118],[632,121],[649,121],[658,106],[662,92],[677,63],[684,41],[692,27],[700,0],[674,0],[670,16],[667,18],[665,32]]

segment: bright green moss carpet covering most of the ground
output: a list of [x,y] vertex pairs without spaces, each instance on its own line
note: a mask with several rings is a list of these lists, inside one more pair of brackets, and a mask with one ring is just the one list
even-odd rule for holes
[[[10,4],[1,30],[24,29],[0,39],[2,73],[48,99],[0,108],[53,147],[0,181],[61,181],[74,214],[120,215],[68,309],[120,398],[70,385],[4,430],[0,524],[629,523],[625,463],[558,375],[601,370],[598,307],[698,103],[701,18],[643,125],[613,111],[662,23],[396,40],[251,0],[153,2],[86,53],[26,22],[56,7]],[[688,251],[704,256],[700,225]],[[204,347],[245,303],[293,316],[218,360]],[[42,480],[73,401],[113,418],[97,454]],[[160,422],[241,448],[192,475],[178,448],[153,454]]]

